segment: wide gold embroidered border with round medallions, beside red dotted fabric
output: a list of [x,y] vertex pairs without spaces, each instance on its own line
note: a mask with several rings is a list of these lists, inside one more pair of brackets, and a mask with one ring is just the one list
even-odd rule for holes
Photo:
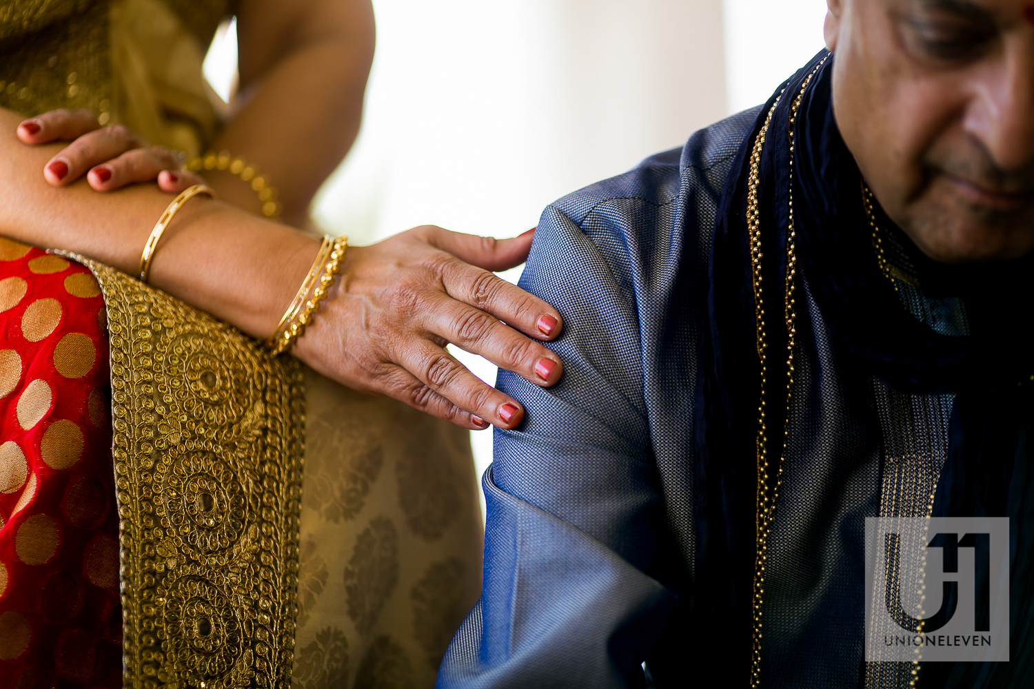
[[126,687],[288,687],[300,368],[107,265]]

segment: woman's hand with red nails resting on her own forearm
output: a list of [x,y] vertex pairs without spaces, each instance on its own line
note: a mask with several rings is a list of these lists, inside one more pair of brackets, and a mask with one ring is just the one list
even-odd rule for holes
[[55,187],[86,175],[97,191],[157,182],[162,191],[178,194],[205,181],[183,169],[183,161],[169,149],[147,146],[121,125],[101,127],[89,111],[44,113],[20,124],[18,137],[29,145],[71,142],[43,166],[43,178]]

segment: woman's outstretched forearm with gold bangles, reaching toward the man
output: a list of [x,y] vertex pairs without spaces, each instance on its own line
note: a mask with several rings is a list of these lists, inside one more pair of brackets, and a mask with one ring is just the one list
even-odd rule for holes
[[[134,275],[154,223],[172,200],[152,185],[100,194],[83,181],[55,188],[39,169],[60,146],[28,147],[22,121],[0,109],[0,233],[65,249]],[[151,284],[253,337],[273,332],[317,242],[226,203],[190,200],[162,237]]]

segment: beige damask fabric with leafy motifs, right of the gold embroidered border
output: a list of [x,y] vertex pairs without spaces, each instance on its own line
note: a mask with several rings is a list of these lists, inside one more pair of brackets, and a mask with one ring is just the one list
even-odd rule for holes
[[305,387],[292,687],[430,689],[443,644],[480,593],[467,434],[311,371]]

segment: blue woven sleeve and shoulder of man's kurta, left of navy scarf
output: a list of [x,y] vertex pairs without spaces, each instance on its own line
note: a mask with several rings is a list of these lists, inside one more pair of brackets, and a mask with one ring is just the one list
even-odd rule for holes
[[520,285],[564,316],[565,375],[549,390],[499,376],[527,421],[496,435],[482,601],[439,686],[645,686],[647,655],[657,675],[680,654],[662,637],[692,599],[696,551],[700,301],[685,294],[705,288],[718,199],[757,113],[543,214]]

